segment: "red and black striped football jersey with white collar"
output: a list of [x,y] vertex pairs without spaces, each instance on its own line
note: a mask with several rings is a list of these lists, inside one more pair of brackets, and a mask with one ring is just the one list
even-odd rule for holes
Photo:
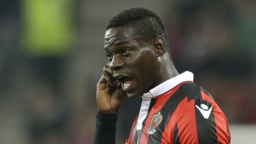
[[143,94],[126,144],[230,144],[225,115],[193,77],[183,72]]

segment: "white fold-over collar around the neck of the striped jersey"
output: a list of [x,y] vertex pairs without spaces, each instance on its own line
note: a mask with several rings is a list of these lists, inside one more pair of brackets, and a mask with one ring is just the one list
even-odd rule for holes
[[166,80],[165,82],[159,84],[158,86],[151,89],[148,93],[143,94],[143,98],[154,98],[161,94],[164,94],[168,90],[171,90],[175,86],[179,85],[180,83],[187,82],[187,81],[194,81],[194,74],[192,72],[186,71],[178,76],[175,76],[171,79]]

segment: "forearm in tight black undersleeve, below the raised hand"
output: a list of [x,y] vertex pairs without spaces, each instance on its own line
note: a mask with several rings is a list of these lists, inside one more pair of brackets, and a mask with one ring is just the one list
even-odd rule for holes
[[93,144],[115,144],[118,115],[97,112]]

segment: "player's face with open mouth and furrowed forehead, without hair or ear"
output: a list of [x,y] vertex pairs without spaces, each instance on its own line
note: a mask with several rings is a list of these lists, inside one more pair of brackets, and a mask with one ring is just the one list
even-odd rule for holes
[[153,41],[140,40],[132,28],[106,31],[104,49],[110,61],[109,67],[129,98],[142,96],[160,84],[160,62]]

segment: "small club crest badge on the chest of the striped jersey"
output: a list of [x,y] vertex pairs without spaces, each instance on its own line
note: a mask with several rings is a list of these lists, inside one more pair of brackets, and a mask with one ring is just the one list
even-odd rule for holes
[[150,126],[146,130],[147,134],[153,134],[156,132],[156,127],[160,124],[162,121],[163,116],[161,115],[161,112],[158,112],[157,114],[154,114],[151,121],[150,121]]

